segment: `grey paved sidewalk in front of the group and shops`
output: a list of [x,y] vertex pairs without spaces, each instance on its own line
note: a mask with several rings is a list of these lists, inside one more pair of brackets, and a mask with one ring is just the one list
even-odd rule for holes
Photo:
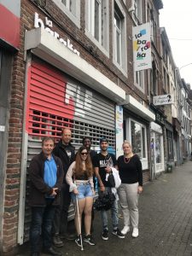
[[[146,184],[139,199],[139,212],[138,238],[132,238],[129,233],[125,239],[110,235],[108,241],[102,241],[100,213],[96,212],[96,246],[84,245],[84,251],[81,251],[74,241],[65,241],[60,251],[63,256],[192,255],[192,162],[178,166],[172,173],[163,173]],[[123,227],[122,218],[119,226]],[[18,256],[29,255],[28,245],[20,249]]]

